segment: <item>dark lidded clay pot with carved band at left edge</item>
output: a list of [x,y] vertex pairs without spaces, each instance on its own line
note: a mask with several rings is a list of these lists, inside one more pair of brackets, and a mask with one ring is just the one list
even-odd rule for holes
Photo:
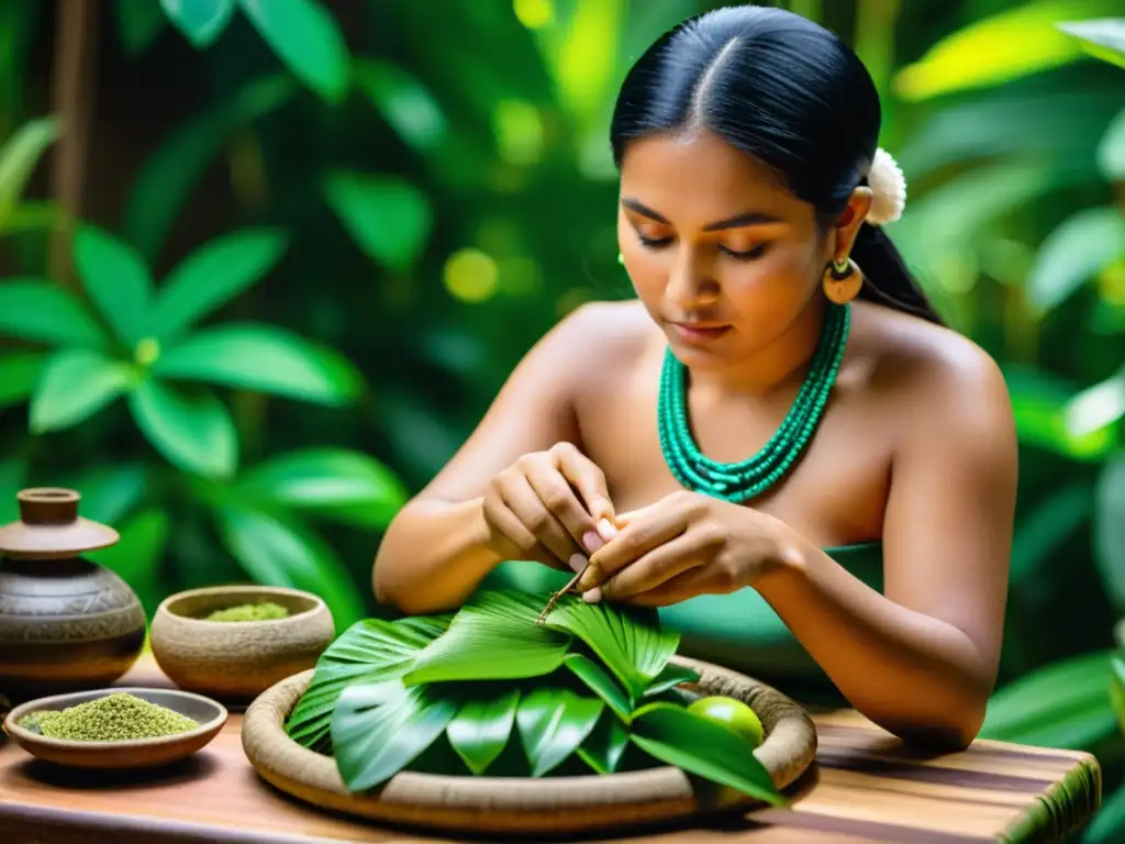
[[144,608],[82,555],[117,531],[81,518],[73,490],[16,497],[19,521],[0,528],[0,692],[26,700],[114,682],[144,646]]

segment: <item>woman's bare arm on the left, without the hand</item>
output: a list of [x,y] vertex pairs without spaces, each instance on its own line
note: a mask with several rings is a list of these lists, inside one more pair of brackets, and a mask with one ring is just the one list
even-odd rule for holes
[[453,609],[504,558],[485,490],[522,455],[578,442],[575,393],[595,308],[578,308],[528,352],[453,459],[397,513],[375,559],[379,601],[412,614]]

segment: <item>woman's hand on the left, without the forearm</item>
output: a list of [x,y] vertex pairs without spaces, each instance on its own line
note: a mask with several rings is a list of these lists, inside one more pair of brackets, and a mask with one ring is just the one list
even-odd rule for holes
[[569,442],[523,455],[496,475],[483,513],[487,545],[503,559],[575,572],[615,532],[605,475]]

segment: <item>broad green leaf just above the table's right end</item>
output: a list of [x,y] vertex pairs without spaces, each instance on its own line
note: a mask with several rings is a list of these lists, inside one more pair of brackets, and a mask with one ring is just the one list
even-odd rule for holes
[[1087,749],[1110,736],[1109,652],[1061,659],[996,692],[981,738],[1040,747]]

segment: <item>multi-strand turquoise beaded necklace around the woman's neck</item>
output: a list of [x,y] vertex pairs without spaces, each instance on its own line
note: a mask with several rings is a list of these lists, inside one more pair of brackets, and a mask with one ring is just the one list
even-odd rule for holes
[[738,504],[749,501],[785,475],[804,451],[825,414],[828,394],[847,347],[850,306],[828,303],[825,324],[809,375],[793,406],[770,441],[740,463],[717,463],[699,450],[687,413],[687,372],[668,349],[660,370],[657,425],[664,459],[676,479],[693,492]]

